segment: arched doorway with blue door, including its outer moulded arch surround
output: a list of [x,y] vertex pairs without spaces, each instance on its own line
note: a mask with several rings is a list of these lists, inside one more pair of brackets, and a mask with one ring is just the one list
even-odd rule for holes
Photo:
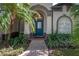
[[[40,4],[34,5],[31,8],[32,10],[36,11],[39,16],[35,16],[35,33],[33,36],[38,37],[45,37],[47,33],[47,17],[48,17],[48,9]],[[31,32],[32,33],[32,32]]]

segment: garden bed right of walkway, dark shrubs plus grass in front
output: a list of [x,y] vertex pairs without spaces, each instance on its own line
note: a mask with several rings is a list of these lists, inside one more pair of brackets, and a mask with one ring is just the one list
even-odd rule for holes
[[79,47],[73,41],[70,34],[50,34],[45,43],[50,56],[79,56]]

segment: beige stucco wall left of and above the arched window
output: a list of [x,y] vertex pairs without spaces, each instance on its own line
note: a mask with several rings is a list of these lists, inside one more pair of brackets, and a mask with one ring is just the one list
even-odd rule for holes
[[[53,33],[56,32],[57,29],[57,20],[59,17],[66,15],[70,17],[69,12],[67,11],[67,6],[62,6],[62,11],[53,11]],[[71,17],[70,17],[71,18]]]

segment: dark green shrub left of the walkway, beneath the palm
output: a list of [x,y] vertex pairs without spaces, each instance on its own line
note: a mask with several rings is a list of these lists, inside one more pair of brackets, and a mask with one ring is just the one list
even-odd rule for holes
[[18,37],[11,38],[9,40],[9,44],[13,48],[18,47],[18,46],[22,46],[25,43],[28,43],[28,40],[24,38],[24,34],[19,34]]

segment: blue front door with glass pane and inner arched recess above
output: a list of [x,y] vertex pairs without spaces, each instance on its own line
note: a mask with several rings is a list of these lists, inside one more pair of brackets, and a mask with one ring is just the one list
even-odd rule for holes
[[35,21],[35,32],[33,33],[36,37],[44,36],[44,13],[41,10],[35,10],[37,13],[33,15]]

